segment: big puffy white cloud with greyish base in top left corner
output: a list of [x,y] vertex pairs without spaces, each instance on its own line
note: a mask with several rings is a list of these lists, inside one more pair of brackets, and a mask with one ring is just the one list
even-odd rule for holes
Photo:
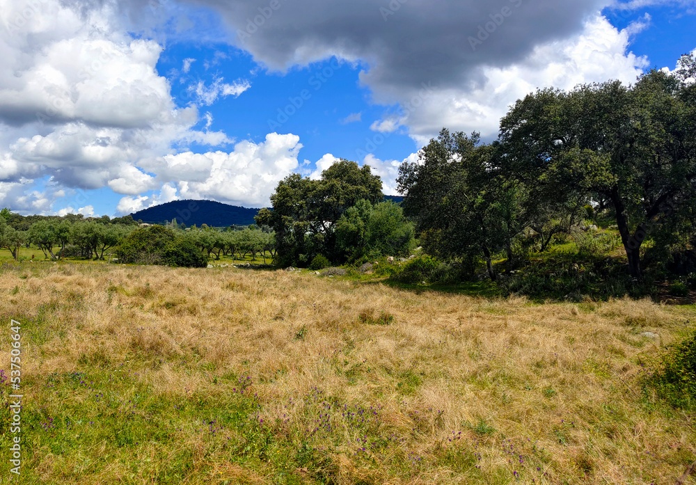
[[104,32],[109,8],[94,10],[90,22],[53,1],[4,0],[0,12],[8,25],[0,33],[2,122],[134,128],[173,109],[155,70],[161,47]]

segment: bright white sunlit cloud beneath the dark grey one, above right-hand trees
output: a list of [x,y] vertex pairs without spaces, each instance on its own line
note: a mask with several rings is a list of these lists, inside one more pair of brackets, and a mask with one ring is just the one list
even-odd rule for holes
[[[579,35],[538,45],[505,67],[482,67],[482,78],[475,86],[433,90],[420,106],[407,110],[401,122],[422,144],[442,127],[479,131],[494,138],[509,106],[537,88],[571,89],[607,79],[632,83],[648,61],[626,54],[629,29],[618,31],[606,18],[594,15]],[[407,99],[415,95],[416,90],[405,93]]]

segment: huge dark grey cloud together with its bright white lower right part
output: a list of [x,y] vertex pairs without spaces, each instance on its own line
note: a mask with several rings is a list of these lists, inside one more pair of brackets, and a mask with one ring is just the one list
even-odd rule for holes
[[232,42],[271,70],[331,56],[361,63],[374,102],[400,106],[372,129],[405,126],[418,143],[443,126],[493,137],[509,104],[538,87],[631,82],[647,65],[627,50],[649,16],[617,31],[598,13],[633,15],[646,0],[298,0],[276,10],[266,0],[195,1],[219,10]]

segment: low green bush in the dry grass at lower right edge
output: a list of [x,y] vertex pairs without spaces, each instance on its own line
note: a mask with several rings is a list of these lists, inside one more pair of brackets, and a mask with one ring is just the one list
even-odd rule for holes
[[671,346],[651,377],[658,395],[680,408],[696,405],[696,333]]

